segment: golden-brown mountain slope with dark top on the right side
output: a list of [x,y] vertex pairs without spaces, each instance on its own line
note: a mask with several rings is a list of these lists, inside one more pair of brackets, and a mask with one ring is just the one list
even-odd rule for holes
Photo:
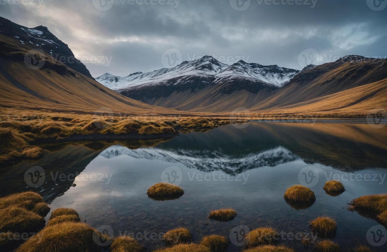
[[300,72],[252,111],[364,116],[387,107],[385,59],[348,55]]

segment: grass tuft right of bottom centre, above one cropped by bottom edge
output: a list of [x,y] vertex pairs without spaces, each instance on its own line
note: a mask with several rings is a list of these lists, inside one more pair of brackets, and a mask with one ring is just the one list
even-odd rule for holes
[[259,245],[272,245],[276,242],[279,233],[272,227],[257,228],[247,233],[246,247],[253,248]]

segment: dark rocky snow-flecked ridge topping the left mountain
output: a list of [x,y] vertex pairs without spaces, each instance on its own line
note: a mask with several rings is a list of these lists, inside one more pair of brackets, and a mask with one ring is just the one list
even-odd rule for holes
[[93,78],[86,66],[75,58],[68,45],[60,41],[45,26],[28,28],[0,17],[0,34],[17,39],[22,44],[30,45],[33,48],[42,49],[64,65]]

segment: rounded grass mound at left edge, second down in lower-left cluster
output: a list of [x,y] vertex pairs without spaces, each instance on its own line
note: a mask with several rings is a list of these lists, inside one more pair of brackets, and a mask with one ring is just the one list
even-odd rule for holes
[[0,232],[36,232],[46,224],[45,219],[24,208],[10,206],[0,209]]

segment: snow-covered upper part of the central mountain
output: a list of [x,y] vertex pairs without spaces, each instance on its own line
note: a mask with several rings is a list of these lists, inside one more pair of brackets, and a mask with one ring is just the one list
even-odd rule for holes
[[[217,81],[248,79],[254,82],[267,83],[281,87],[300,71],[282,68],[277,65],[263,66],[256,63],[238,61],[233,65],[226,65],[211,56],[204,56],[193,61],[183,61],[172,68],[162,68],[148,73],[132,73],[127,77],[119,77],[105,73],[96,78],[102,85],[113,89],[127,89],[140,85],[158,85],[180,79],[185,76],[212,77]],[[177,81],[175,82],[178,83]]]

